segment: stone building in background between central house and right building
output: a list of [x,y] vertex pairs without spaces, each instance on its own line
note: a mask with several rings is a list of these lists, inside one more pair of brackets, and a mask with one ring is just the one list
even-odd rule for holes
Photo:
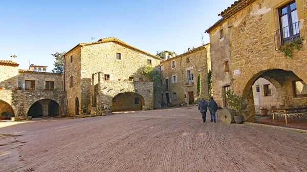
[[[193,104],[199,100],[197,93],[198,76],[201,75],[201,97],[207,100],[208,85],[208,57],[209,44],[189,49],[186,53],[168,56],[160,63],[160,70],[164,76],[165,92],[161,93],[162,104]],[[167,56],[167,55],[166,55]]]

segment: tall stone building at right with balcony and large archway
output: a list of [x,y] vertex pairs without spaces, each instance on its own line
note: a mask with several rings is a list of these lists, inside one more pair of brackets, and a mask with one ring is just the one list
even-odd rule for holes
[[[307,46],[301,39],[307,33],[306,9],[303,0],[243,0],[219,14],[223,18],[206,31],[210,34],[213,96],[218,103],[225,103],[221,95],[233,89],[247,98],[245,121],[254,120],[252,85],[258,78],[270,81],[277,100],[285,105],[307,102]],[[300,50],[286,58],[281,46],[299,39]],[[216,53],[217,49],[222,52]],[[229,73],[218,70],[226,64]]]

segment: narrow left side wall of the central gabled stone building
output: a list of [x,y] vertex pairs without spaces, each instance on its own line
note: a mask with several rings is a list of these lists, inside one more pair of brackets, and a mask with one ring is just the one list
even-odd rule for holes
[[[73,55],[73,62],[71,62],[71,55]],[[65,90],[67,92],[67,114],[73,116],[76,114],[75,101],[79,99],[79,111],[81,111],[81,92],[84,92],[84,88],[81,88],[81,48],[78,47],[75,50],[65,55]],[[73,87],[70,87],[70,77],[73,76]]]

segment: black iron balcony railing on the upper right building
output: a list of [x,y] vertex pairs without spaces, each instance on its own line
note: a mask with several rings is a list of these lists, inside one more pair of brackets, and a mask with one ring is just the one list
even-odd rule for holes
[[296,39],[300,39],[299,22],[274,31],[275,50],[280,50],[280,46]]

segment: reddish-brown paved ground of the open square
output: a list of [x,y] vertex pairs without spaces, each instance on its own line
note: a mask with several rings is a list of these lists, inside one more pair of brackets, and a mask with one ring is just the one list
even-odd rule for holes
[[196,107],[18,122],[0,134],[0,171],[307,171],[306,134],[203,123]]

